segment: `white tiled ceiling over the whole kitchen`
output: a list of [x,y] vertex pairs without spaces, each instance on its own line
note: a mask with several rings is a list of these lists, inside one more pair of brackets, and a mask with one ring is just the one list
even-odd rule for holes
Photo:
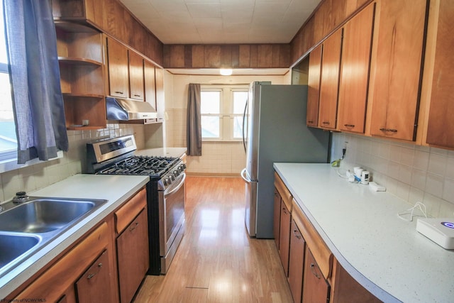
[[189,44],[288,43],[319,4],[319,0],[121,1],[162,43]]

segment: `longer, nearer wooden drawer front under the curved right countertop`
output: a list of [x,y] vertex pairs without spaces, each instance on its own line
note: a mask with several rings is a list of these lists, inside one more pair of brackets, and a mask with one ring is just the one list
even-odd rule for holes
[[292,218],[301,231],[301,235],[312,255],[314,255],[323,277],[328,279],[333,268],[333,254],[294,199],[292,199],[292,204]]

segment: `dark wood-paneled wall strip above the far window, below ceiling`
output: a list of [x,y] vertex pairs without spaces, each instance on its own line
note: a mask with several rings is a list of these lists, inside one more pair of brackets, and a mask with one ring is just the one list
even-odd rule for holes
[[164,45],[167,68],[287,68],[289,44]]

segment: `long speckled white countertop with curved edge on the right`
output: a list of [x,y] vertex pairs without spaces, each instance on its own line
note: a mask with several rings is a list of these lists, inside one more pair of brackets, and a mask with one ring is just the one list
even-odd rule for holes
[[384,302],[454,302],[454,250],[397,216],[410,204],[350,183],[329,164],[275,170],[343,268]]

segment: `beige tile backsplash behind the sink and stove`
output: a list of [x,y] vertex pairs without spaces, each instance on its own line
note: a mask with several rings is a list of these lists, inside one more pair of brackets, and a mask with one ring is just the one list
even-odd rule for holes
[[67,131],[70,149],[63,157],[0,174],[0,202],[12,199],[16,192],[31,192],[86,170],[86,143],[101,138],[135,135],[138,149],[143,148],[142,125],[111,123],[94,131]]

